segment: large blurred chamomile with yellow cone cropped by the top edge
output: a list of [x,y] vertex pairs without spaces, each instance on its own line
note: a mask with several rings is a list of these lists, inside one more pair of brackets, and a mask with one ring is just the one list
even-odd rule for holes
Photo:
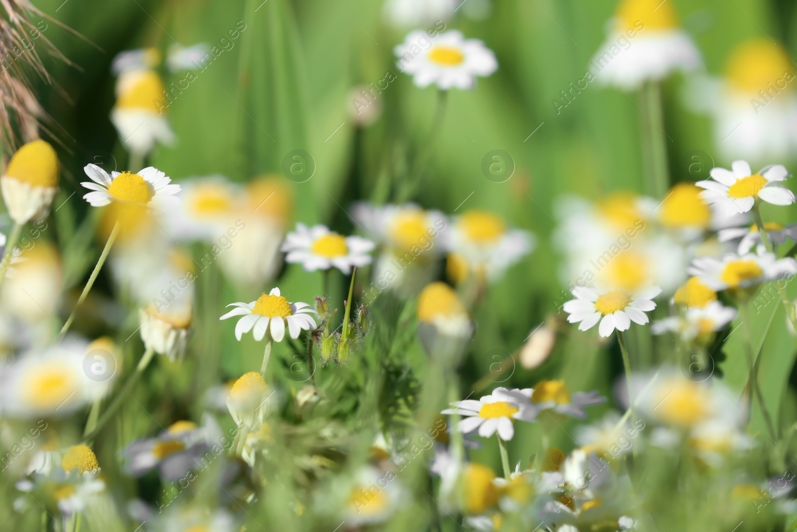
[[599,82],[637,89],[677,70],[697,69],[700,53],[678,26],[673,6],[657,0],[621,0],[611,30],[591,61]]

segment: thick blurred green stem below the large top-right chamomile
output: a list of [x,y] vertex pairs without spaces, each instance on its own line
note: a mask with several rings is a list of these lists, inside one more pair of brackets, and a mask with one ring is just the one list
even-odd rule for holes
[[642,108],[647,115],[642,120],[645,120],[643,131],[650,149],[648,189],[655,197],[664,198],[669,189],[669,168],[663,129],[662,87],[657,81],[647,81],[642,85]]

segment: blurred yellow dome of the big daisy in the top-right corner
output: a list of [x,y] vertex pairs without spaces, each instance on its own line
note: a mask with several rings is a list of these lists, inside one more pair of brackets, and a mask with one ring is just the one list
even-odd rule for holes
[[783,78],[793,72],[787,51],[769,39],[753,39],[739,45],[728,58],[726,68],[730,85],[753,97],[762,90],[771,91],[770,83],[775,90],[791,90]]

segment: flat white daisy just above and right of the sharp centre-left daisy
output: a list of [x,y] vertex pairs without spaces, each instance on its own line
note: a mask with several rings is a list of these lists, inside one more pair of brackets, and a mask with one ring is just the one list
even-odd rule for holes
[[353,235],[344,237],[323,225],[307,227],[297,223],[296,231],[285,237],[281,251],[287,253],[285,262],[300,262],[306,271],[334,267],[344,274],[350,274],[352,266],[371,264],[371,255],[368,253],[375,246],[367,238]]

